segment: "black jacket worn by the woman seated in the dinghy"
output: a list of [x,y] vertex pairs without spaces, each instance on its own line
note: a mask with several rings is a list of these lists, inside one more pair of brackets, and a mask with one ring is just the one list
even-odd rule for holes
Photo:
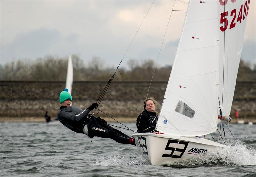
[[157,118],[158,116],[155,112],[144,110],[140,113],[136,121],[138,133],[153,132],[156,128]]

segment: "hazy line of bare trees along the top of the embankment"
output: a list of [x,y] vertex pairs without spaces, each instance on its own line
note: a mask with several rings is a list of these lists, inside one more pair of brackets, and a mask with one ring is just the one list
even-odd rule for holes
[[[72,56],[74,81],[106,81],[116,71],[114,67],[105,67],[104,60],[92,57],[84,64],[77,55]],[[0,65],[0,80],[2,81],[65,81],[68,57],[45,56],[36,60],[19,59]],[[155,61],[151,59],[139,62],[136,59],[128,61],[128,69],[119,68],[115,81],[150,81],[155,69]],[[172,66],[156,67],[153,81],[168,81]],[[256,81],[256,64],[253,69],[250,64],[240,61],[238,81]]]

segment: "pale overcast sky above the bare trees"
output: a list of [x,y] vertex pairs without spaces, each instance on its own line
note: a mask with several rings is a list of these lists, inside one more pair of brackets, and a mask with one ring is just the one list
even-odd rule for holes
[[[187,10],[187,0],[175,10]],[[117,67],[153,1],[0,0],[0,64],[46,55],[93,56]],[[156,61],[170,10],[170,1],[155,1],[126,53],[129,59]],[[172,12],[159,56],[159,66],[172,65],[185,12]],[[250,1],[242,58],[256,63],[256,0]]]

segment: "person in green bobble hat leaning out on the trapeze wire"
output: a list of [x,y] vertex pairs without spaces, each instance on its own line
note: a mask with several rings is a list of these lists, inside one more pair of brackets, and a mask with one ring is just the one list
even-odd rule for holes
[[76,133],[83,133],[90,138],[111,138],[118,143],[135,145],[133,138],[107,125],[104,119],[89,114],[91,110],[98,106],[97,103],[92,103],[87,109],[82,110],[77,106],[71,106],[71,102],[72,96],[68,89],[65,89],[60,93],[61,106],[58,114],[58,120],[64,126]]

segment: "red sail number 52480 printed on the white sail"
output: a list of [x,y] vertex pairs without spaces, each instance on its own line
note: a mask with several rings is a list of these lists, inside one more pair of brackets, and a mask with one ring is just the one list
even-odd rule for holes
[[[224,2],[222,0],[219,0],[221,5],[225,5],[227,3],[227,0],[225,0]],[[236,0],[235,0],[236,1]],[[235,2],[234,0],[231,2]],[[241,23],[242,19],[244,20],[245,17],[248,15],[248,11],[249,11],[249,4],[250,4],[250,0],[245,1],[244,3],[244,8],[243,8],[243,4],[240,7],[238,16],[237,16],[237,21],[236,20],[236,9],[233,9],[230,13],[230,17],[233,17],[230,25],[229,25],[229,29],[232,29],[236,26],[236,22]],[[221,13],[221,17],[220,17],[220,23],[223,24],[224,26],[220,27],[221,31],[225,31],[228,28],[228,19],[225,18],[226,16],[228,16],[228,11],[227,12],[223,12]]]

